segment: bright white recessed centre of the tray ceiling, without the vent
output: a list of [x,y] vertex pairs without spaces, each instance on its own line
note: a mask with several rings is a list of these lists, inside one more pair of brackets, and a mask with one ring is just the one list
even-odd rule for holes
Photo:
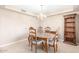
[[18,5],[15,6],[18,9],[23,9],[25,11],[33,12],[35,14],[43,13],[51,13],[57,11],[63,11],[72,7],[72,5],[43,5],[42,11],[40,5]]

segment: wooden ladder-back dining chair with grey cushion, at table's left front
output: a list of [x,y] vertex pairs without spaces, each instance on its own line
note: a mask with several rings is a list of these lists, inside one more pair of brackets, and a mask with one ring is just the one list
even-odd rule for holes
[[43,40],[37,39],[36,36],[36,29],[30,28],[29,31],[29,42],[31,44],[31,50],[33,50],[33,46],[35,46],[35,52],[37,52],[37,46],[42,46],[43,47]]

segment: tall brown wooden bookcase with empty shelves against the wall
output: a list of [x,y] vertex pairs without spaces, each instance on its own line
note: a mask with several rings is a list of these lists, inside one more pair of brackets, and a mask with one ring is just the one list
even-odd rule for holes
[[64,42],[74,43],[76,45],[76,14],[64,16]]

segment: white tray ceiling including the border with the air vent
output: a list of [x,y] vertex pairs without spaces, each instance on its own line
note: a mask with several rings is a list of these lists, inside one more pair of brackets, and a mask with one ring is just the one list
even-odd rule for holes
[[[6,8],[19,10],[22,12],[29,12],[33,15],[38,15],[41,12],[40,5],[6,5]],[[42,13],[45,15],[56,14],[60,12],[68,12],[73,10],[73,5],[43,5]]]

